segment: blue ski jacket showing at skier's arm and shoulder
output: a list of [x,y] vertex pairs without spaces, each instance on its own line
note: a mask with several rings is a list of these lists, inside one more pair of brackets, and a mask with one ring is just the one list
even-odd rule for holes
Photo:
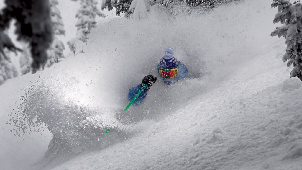
[[[178,62],[178,70],[177,70],[177,75],[175,77],[173,77],[172,79],[167,79],[167,78],[163,78],[162,76],[160,76],[162,78],[162,81],[167,86],[169,86],[172,83],[177,82],[178,80],[188,77],[189,71],[188,71],[187,67],[184,64],[182,64],[182,62],[180,62],[180,61],[177,61],[177,62]],[[131,101],[142,88],[143,88],[142,84],[140,83],[136,87],[132,87],[131,89],[129,89],[128,100]],[[143,90],[142,93],[140,93],[140,95],[137,96],[137,98],[134,100],[132,105],[136,106],[136,105],[139,105],[140,103],[142,103],[142,101],[146,97],[148,91],[149,91],[149,89]]]

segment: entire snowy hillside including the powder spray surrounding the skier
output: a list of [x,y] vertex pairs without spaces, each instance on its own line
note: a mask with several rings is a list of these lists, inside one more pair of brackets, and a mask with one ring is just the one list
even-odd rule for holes
[[[1,85],[0,169],[302,169],[302,82],[270,4],[100,23],[82,53]],[[190,78],[125,112],[166,47]]]

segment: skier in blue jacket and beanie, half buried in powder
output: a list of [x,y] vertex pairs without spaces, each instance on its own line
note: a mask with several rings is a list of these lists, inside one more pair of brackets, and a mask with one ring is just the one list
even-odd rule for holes
[[[188,77],[189,73],[187,67],[174,57],[174,51],[171,48],[166,49],[165,55],[160,59],[159,64],[157,65],[157,70],[162,78],[162,81],[167,86],[177,82],[180,79]],[[143,101],[150,87],[155,82],[156,77],[153,77],[153,75],[149,74],[143,78],[141,84],[129,89],[128,100],[131,101],[143,88],[143,84],[147,85],[146,89],[144,89],[142,93],[134,100],[133,106],[139,105]]]

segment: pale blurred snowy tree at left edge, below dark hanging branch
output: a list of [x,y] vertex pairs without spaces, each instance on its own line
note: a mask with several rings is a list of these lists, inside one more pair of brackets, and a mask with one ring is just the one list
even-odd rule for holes
[[11,63],[9,53],[7,48],[3,49],[3,53],[0,53],[0,84],[3,84],[7,79],[18,76],[16,68]]

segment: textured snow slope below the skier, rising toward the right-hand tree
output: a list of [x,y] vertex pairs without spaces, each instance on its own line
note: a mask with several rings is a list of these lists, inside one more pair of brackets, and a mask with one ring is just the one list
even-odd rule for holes
[[301,82],[278,60],[260,54],[135,137],[54,169],[301,169]]

